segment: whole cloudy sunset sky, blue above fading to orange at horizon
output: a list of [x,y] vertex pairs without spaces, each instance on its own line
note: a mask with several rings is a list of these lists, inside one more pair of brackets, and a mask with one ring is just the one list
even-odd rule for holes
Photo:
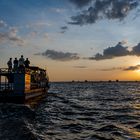
[[139,0],[0,0],[0,66],[29,58],[50,81],[140,80]]

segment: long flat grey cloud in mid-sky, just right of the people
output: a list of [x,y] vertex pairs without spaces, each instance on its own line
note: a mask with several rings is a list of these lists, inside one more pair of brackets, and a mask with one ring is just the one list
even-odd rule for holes
[[46,56],[52,60],[58,61],[70,61],[80,59],[77,53],[60,52],[55,50],[46,50],[44,53],[38,53],[36,55]]

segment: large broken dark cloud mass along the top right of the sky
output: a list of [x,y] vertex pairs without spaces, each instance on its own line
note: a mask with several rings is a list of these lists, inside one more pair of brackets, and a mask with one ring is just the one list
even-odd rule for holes
[[77,6],[90,4],[87,10],[83,10],[76,16],[71,17],[69,24],[85,25],[95,23],[99,19],[123,20],[130,11],[139,5],[138,0],[70,0]]

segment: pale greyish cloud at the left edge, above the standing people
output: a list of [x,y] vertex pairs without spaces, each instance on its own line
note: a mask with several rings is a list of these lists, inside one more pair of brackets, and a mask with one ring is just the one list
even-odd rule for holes
[[18,46],[23,46],[24,40],[17,33],[18,30],[16,28],[12,28],[8,32],[0,32],[0,43],[10,42]]

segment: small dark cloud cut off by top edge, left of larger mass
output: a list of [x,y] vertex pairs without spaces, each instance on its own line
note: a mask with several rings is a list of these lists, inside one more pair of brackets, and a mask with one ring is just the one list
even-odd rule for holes
[[89,4],[92,0],[70,0],[72,3],[74,3],[77,7],[83,7]]

